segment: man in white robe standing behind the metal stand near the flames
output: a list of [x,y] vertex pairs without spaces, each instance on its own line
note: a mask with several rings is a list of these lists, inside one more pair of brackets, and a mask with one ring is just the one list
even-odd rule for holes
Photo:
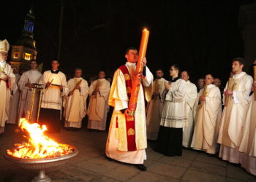
[[[37,70],[37,61],[31,60],[30,70],[24,72],[20,76],[20,80],[18,82],[18,88],[20,90],[20,103],[18,109],[18,121],[21,117],[28,116],[28,111],[31,111],[31,95],[32,90],[35,84],[39,83],[39,80],[42,77],[42,74]],[[39,92],[35,92],[34,95],[34,106],[32,111],[31,120],[37,120],[37,111],[39,106]]]

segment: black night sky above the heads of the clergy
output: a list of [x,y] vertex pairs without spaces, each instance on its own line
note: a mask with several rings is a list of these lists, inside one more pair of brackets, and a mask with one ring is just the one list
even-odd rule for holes
[[[227,80],[232,58],[243,56],[239,7],[252,0],[64,0],[60,69],[68,77],[76,67],[86,79],[106,71],[112,77],[125,63],[127,47],[139,47],[141,31],[151,31],[146,58],[151,71],[169,79],[173,63],[189,71],[193,82],[211,73]],[[34,39],[44,70],[57,57],[61,1],[6,1],[1,4],[0,39],[14,45],[34,4]]]

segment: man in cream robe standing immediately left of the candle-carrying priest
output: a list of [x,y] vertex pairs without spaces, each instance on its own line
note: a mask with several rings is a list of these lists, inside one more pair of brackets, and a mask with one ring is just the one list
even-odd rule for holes
[[109,111],[108,96],[110,82],[105,79],[105,72],[99,71],[99,78],[92,82],[89,88],[90,101],[88,106],[88,129],[106,130],[106,121]]

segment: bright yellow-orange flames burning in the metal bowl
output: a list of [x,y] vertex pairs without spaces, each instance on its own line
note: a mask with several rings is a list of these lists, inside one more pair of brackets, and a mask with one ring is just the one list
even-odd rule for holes
[[42,159],[51,157],[60,157],[72,153],[74,149],[68,145],[56,143],[48,136],[44,135],[47,127],[39,124],[29,124],[29,122],[22,118],[19,124],[20,130],[27,132],[29,135],[24,135],[28,142],[15,144],[15,148],[7,150],[7,154],[12,157],[24,159]]

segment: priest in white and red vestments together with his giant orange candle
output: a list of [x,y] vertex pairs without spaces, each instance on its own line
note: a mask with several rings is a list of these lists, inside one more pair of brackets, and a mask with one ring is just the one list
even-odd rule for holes
[[[127,63],[113,77],[108,104],[114,107],[110,122],[106,155],[119,162],[133,164],[146,170],[146,100],[151,98],[153,75],[146,67],[146,46],[149,31],[143,30],[140,52],[130,47],[125,53]],[[136,65],[137,63],[137,65]]]

